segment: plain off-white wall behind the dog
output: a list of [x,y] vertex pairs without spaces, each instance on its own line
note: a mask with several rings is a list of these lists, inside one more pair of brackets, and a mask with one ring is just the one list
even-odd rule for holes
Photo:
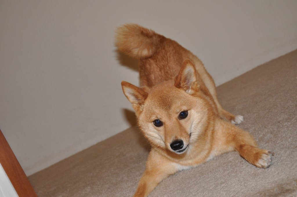
[[116,26],[175,39],[219,85],[296,49],[296,10],[297,1],[2,0],[0,128],[30,175],[130,126],[120,82],[138,84],[138,72],[117,60]]

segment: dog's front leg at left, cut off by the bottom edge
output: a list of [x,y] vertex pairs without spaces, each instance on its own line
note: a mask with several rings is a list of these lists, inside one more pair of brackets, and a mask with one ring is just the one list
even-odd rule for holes
[[151,150],[146,162],[146,170],[138,183],[134,197],[148,196],[159,182],[177,171],[178,166],[176,163],[169,161],[159,155],[159,153]]

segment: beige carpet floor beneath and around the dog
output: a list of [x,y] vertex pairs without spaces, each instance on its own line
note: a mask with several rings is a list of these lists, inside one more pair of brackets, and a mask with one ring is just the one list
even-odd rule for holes
[[[150,196],[297,196],[297,50],[218,87],[239,127],[274,151],[269,169],[230,152],[162,181]],[[120,109],[119,109],[120,110]],[[42,196],[132,196],[149,147],[130,128],[29,177]]]

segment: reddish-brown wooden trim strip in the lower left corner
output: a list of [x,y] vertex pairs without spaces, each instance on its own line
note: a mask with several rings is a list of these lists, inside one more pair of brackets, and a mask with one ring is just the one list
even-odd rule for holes
[[23,168],[0,130],[0,163],[20,197],[37,196]]

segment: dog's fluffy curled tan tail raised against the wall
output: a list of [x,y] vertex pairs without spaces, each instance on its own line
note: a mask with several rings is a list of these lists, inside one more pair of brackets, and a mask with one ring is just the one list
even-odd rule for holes
[[116,30],[116,46],[133,58],[149,58],[157,48],[160,35],[137,24],[125,24]]

